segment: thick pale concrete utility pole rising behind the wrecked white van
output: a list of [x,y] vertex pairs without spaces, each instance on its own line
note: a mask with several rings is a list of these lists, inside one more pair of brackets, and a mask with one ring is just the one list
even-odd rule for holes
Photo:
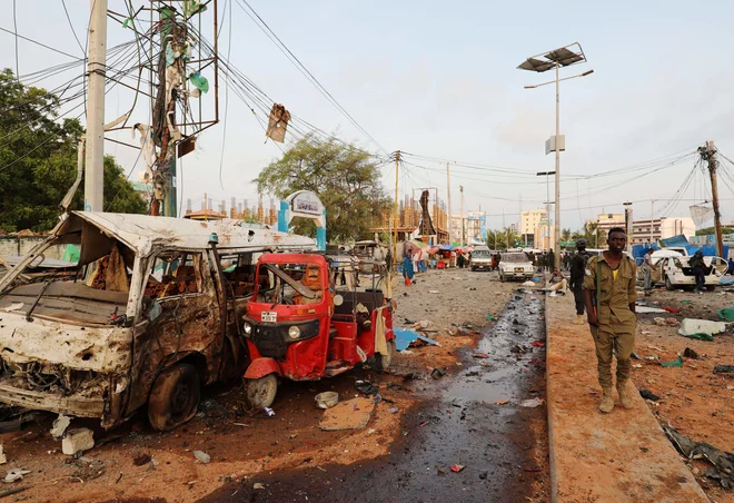
[[90,0],[85,211],[103,211],[107,0]]

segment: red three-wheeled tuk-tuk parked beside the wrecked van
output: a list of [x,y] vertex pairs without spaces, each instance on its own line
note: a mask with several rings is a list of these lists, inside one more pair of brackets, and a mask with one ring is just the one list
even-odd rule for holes
[[378,368],[389,367],[395,334],[384,265],[364,267],[348,255],[265,254],[256,274],[242,326],[249,406],[270,406],[279,377],[317,381],[371,356]]

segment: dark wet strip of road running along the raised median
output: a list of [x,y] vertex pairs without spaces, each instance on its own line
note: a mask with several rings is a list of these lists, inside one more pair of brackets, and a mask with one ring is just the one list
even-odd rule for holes
[[[519,290],[478,346],[464,355],[465,369],[450,382],[435,382],[444,386],[433,391],[439,397],[406,413],[403,435],[387,456],[261,473],[227,483],[201,501],[543,500],[548,477],[545,405],[519,405],[545,397],[545,348],[533,346],[534,341],[545,341],[542,296]],[[453,465],[463,469],[454,472]]]

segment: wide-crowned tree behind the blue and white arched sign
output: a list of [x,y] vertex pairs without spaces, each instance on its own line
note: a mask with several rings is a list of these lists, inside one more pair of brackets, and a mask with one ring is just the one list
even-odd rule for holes
[[[260,194],[285,198],[296,190],[315,193],[326,207],[326,234],[331,243],[370,235],[393,201],[380,183],[371,156],[335,139],[308,136],[270,162],[255,180]],[[315,235],[311,221],[294,221],[296,231]]]

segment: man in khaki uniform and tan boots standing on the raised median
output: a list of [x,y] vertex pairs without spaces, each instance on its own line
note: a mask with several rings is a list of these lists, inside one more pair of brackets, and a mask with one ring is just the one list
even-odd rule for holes
[[592,257],[584,276],[584,303],[588,325],[596,344],[598,379],[602,386],[599,411],[614,408],[612,395],[612,359],[617,358],[617,393],[624,408],[632,408],[632,393],[627,381],[632,372],[632,351],[635,346],[635,300],[637,299],[637,266],[623,251],[627,235],[622,227],[609,230],[609,249]]

